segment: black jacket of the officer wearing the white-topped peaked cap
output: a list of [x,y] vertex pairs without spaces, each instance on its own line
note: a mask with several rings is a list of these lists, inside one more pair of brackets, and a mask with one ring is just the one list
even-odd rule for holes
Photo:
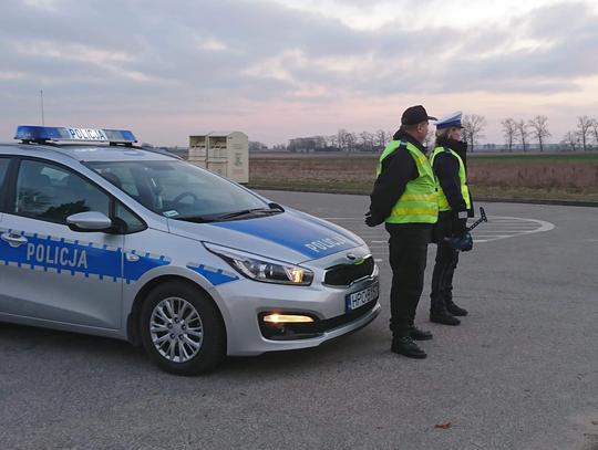
[[[436,147],[447,147],[454,150],[463,160],[465,172],[467,172],[467,144],[460,140],[441,138]],[[432,166],[434,175],[439,178],[440,186],[446,196],[451,207],[451,216],[458,217],[462,211],[467,211],[467,205],[461,193],[461,179],[458,178],[458,159],[450,151],[441,151],[434,158]]]

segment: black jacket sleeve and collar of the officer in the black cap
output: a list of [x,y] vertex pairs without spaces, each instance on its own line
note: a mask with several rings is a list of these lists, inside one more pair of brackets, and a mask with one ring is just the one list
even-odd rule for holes
[[[425,148],[422,144],[402,129],[399,129],[392,139],[406,140],[425,155]],[[370,212],[375,224],[386,220],[392,208],[405,191],[408,182],[419,177],[417,165],[406,148],[399,147],[382,160],[382,172],[375,180],[373,191],[370,195]]]

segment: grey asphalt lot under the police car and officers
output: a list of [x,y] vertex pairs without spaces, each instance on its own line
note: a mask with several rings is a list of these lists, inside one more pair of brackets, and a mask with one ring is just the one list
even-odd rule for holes
[[[371,245],[382,314],[321,348],[195,378],[127,343],[0,324],[0,449],[598,449],[598,211],[488,203],[456,272],[461,326],[390,352],[390,269],[369,199],[261,192]],[[436,425],[451,422],[446,429]]]

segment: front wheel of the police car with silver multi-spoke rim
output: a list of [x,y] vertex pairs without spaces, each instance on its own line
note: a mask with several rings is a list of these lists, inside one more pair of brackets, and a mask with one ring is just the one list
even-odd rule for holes
[[141,312],[141,336],[148,356],[165,371],[193,376],[226,357],[226,328],[214,301],[192,283],[155,287]]

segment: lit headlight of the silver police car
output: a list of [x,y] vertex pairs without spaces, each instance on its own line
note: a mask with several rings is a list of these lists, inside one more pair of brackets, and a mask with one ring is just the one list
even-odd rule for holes
[[267,260],[251,253],[226,247],[204,242],[204,247],[212,253],[220,257],[241,275],[254,281],[275,284],[289,284],[293,286],[309,286],[313,280],[313,272],[308,269],[287,264],[280,261]]

